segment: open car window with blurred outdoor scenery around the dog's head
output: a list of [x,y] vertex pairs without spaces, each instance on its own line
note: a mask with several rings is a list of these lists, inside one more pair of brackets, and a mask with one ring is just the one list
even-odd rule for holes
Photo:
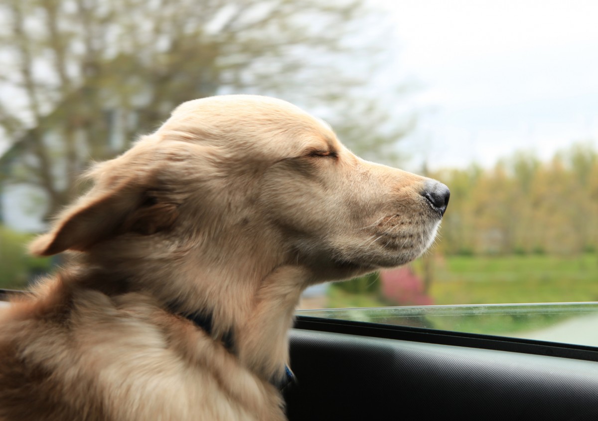
[[[383,311],[395,321],[382,310],[304,314],[570,331],[598,302],[597,14],[585,1],[8,0],[0,288],[23,289],[62,261],[24,245],[84,191],[92,160],[124,152],[180,102],[260,93],[322,117],[362,158],[451,190],[422,257],[312,286],[300,302],[393,307]],[[541,305],[571,302],[589,304]]]

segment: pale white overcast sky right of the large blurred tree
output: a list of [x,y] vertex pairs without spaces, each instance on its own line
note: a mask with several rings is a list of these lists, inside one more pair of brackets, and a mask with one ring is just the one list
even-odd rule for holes
[[598,146],[598,1],[373,1],[394,32],[388,77],[417,86],[410,166]]

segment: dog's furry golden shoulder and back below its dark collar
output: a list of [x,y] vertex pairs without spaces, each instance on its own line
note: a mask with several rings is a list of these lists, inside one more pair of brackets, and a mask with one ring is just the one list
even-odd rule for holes
[[0,312],[0,419],[277,420],[280,408],[273,386],[143,293],[50,280]]

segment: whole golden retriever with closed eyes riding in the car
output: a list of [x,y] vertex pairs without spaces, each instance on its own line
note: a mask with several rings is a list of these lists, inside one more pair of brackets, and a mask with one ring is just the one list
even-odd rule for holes
[[0,313],[1,420],[284,420],[301,292],[432,243],[444,184],[353,155],[278,99],[185,102],[89,172]]

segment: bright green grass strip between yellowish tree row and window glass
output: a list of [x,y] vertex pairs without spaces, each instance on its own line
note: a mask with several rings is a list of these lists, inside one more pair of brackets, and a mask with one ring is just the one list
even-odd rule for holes
[[598,301],[598,256],[437,259],[430,295],[434,304]]

